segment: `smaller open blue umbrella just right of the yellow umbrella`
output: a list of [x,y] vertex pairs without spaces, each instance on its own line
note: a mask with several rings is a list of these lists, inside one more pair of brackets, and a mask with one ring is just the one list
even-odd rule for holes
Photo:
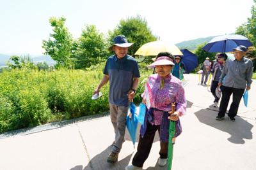
[[197,56],[187,49],[180,50],[183,53],[181,62],[184,64],[186,73],[190,73],[198,66]]

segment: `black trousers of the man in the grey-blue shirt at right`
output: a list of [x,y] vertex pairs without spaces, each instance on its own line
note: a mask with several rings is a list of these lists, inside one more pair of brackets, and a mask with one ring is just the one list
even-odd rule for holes
[[222,91],[222,97],[221,97],[220,111],[218,113],[218,116],[219,117],[225,116],[225,112],[227,111],[230,96],[231,94],[233,94],[233,101],[228,111],[228,117],[231,117],[231,118],[236,117],[239,103],[244,94],[244,89],[236,89],[232,87],[222,86],[221,91]]

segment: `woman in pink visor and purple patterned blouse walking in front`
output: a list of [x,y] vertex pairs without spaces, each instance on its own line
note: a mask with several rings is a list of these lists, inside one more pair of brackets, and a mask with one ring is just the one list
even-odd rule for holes
[[[161,53],[161,55],[163,54]],[[165,166],[168,157],[170,120],[179,122],[179,117],[186,112],[186,98],[182,81],[172,75],[174,64],[170,56],[161,55],[148,66],[150,68],[156,67],[157,73],[150,75],[148,78],[153,103],[145,114],[143,126],[141,125],[138,148],[132,159],[132,165],[125,167],[125,170],[142,169],[150,153],[156,131],[159,132],[160,137],[158,165]],[[142,102],[146,103],[145,92],[141,96],[143,97]],[[175,113],[170,115],[172,113],[172,103],[176,104],[176,110]],[[179,136],[180,132],[181,129],[176,127],[175,137]]]

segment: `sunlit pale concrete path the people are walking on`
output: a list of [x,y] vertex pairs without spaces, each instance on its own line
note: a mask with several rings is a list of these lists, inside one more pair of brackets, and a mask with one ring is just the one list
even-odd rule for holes
[[[256,169],[256,83],[250,90],[248,108],[243,101],[236,122],[217,121],[218,109],[207,87],[198,85],[198,75],[185,75],[187,115],[180,118],[183,132],[174,146],[173,170],[255,170]],[[159,137],[156,135],[143,169],[157,166]],[[0,139],[0,169],[105,170],[124,169],[136,152],[129,136],[116,164],[108,164],[114,139],[109,116],[78,122],[58,129],[16,134]],[[138,143],[136,143],[137,145]]]

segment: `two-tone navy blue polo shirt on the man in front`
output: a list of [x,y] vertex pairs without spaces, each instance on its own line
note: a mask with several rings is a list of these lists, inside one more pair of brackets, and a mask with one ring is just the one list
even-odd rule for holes
[[108,58],[103,73],[109,76],[109,103],[127,106],[127,94],[132,89],[133,80],[140,77],[136,60],[130,55],[125,55],[122,59],[112,55]]

